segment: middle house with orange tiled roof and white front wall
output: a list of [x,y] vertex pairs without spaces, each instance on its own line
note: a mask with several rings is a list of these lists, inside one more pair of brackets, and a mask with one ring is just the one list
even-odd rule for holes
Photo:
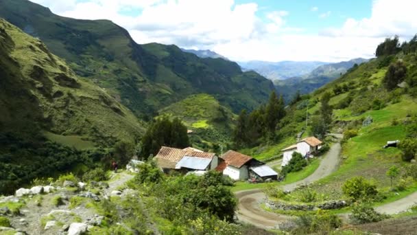
[[263,163],[248,155],[228,150],[222,157],[216,170],[222,171],[223,175],[228,175],[235,180],[246,180],[249,178],[249,168],[260,166]]

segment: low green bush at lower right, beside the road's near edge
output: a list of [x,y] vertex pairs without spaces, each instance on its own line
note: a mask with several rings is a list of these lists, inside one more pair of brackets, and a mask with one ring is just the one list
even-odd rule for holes
[[389,218],[388,215],[379,214],[368,203],[355,203],[350,219],[354,223],[371,223]]

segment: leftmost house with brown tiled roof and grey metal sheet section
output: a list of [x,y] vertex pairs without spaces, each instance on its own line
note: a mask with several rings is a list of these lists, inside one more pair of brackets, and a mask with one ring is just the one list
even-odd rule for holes
[[206,153],[196,148],[169,148],[163,146],[154,157],[160,168],[169,170],[214,170],[218,164],[215,153]]

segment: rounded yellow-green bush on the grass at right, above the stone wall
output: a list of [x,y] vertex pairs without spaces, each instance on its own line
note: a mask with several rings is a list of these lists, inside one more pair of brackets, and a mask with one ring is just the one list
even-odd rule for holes
[[378,195],[377,186],[364,177],[348,179],[342,186],[343,193],[354,201],[374,199]]

